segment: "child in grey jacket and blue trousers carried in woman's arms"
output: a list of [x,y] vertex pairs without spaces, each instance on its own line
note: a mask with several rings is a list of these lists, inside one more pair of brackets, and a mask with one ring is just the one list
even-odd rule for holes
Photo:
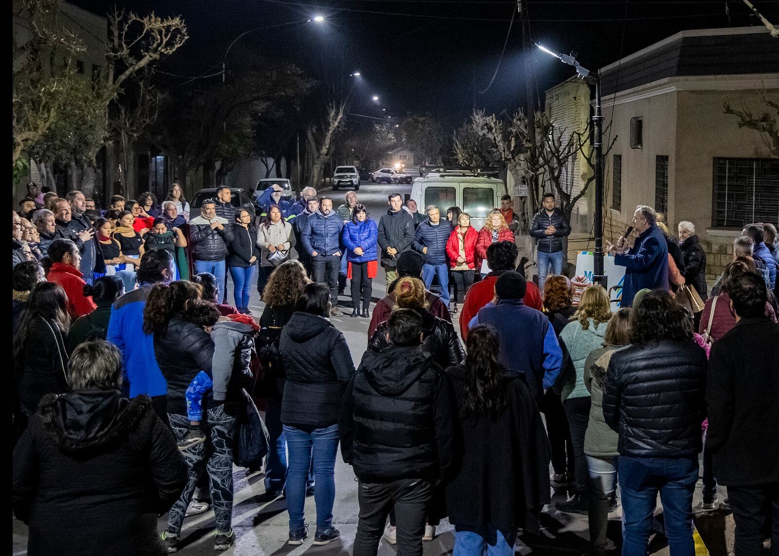
[[[178,449],[189,449],[206,440],[206,432],[203,428],[203,399],[208,392],[213,391],[213,402],[224,403],[227,397],[227,389],[240,389],[252,381],[252,371],[249,370],[249,361],[252,357],[254,336],[259,331],[259,325],[251,315],[231,315],[220,317],[214,323],[208,315],[209,311],[203,311],[203,320],[199,320],[199,308],[188,313],[188,320],[203,326],[211,334],[213,340],[212,373],[200,371],[186,392],[187,417],[189,418],[189,431],[178,442]],[[207,315],[206,315],[207,313]]]

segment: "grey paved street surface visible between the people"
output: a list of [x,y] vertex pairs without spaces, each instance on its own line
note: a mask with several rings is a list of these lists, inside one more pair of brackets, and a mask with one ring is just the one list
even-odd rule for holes
[[[411,191],[410,185],[375,185],[363,183],[358,192],[360,202],[365,203],[370,211],[370,216],[376,220],[386,210],[386,195],[392,191],[401,194]],[[334,208],[339,206],[344,199],[344,192],[335,192],[333,199]],[[445,208],[445,207],[442,207]],[[385,293],[384,276],[380,275],[374,280],[374,297],[381,298]],[[348,284],[347,284],[348,293]],[[348,304],[348,297],[341,297],[340,304]],[[259,316],[263,304],[256,298],[250,305],[254,315]],[[456,315],[457,316],[457,315]],[[354,363],[357,365],[367,345],[366,330],[368,319],[351,318],[347,315],[341,318],[333,318],[336,326],[344,332],[349,347],[351,348]],[[457,328],[457,326],[456,326]],[[287,540],[287,513],[283,498],[275,501],[262,501],[264,492],[263,475],[255,473],[247,477],[245,470],[236,469],[234,473],[235,503],[233,512],[233,526],[238,536],[234,549],[226,554],[351,554],[351,546],[354,534],[357,530],[358,503],[357,484],[354,482],[354,474],[351,467],[340,461],[336,466],[336,503],[333,510],[334,525],[341,532],[341,540],[326,547],[313,547],[311,539],[315,530],[315,506],[314,498],[306,501],[306,516],[309,523],[309,540],[300,547],[289,547]],[[700,485],[696,492],[695,504],[700,501]],[[619,512],[612,514],[609,523],[609,537],[619,534]],[[159,530],[164,530],[165,519],[160,519]],[[548,509],[542,519],[543,530],[535,547],[526,544],[517,544],[520,554],[582,554],[587,551],[587,517],[573,516],[555,512]],[[186,519],[182,533],[181,554],[213,554],[213,512],[206,512],[200,516]],[[99,534],[99,532],[95,532]],[[425,556],[437,554],[451,554],[453,548],[453,534],[451,526],[444,521],[438,529],[438,537],[432,542],[425,543]],[[13,554],[26,554],[26,526],[18,521],[13,521]],[[668,554],[664,538],[656,536],[651,544],[651,554]],[[395,554],[395,549],[382,541],[379,554]]]

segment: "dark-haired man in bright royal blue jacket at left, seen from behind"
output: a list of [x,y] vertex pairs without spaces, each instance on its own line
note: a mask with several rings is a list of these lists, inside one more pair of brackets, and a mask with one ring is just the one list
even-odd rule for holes
[[151,288],[157,283],[170,283],[173,276],[170,252],[155,249],[143,255],[138,267],[138,289],[129,291],[111,305],[106,335],[106,340],[122,352],[125,394],[131,399],[141,394],[149,396],[154,412],[166,424],[167,382],[154,357],[154,338],[143,333],[143,309]]

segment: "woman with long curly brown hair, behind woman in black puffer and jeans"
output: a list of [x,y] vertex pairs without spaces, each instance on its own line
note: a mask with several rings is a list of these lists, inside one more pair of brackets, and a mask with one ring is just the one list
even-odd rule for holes
[[[305,268],[298,260],[282,262],[268,278],[263,290],[265,308],[259,317],[262,327],[257,338],[258,355],[263,363],[263,378],[257,385],[265,399],[265,424],[270,435],[268,459],[265,464],[265,491],[268,498],[275,498],[284,489],[287,477],[287,438],[281,424],[281,401],[284,394],[284,361],[278,356],[279,339],[284,326],[287,326],[294,304],[303,289],[311,283]],[[275,348],[273,354],[266,354],[263,346]],[[263,361],[267,359],[267,361]],[[313,478],[309,477],[308,490],[312,488]]]

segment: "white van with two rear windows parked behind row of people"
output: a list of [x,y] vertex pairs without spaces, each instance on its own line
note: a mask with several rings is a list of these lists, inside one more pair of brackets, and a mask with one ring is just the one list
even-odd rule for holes
[[[481,230],[492,209],[500,207],[505,194],[503,182],[484,173],[465,170],[432,171],[422,178],[414,178],[411,196],[417,209],[425,213],[425,206],[435,205],[446,218],[446,209],[459,206],[471,215],[471,226]],[[407,199],[404,199],[404,201]]]

